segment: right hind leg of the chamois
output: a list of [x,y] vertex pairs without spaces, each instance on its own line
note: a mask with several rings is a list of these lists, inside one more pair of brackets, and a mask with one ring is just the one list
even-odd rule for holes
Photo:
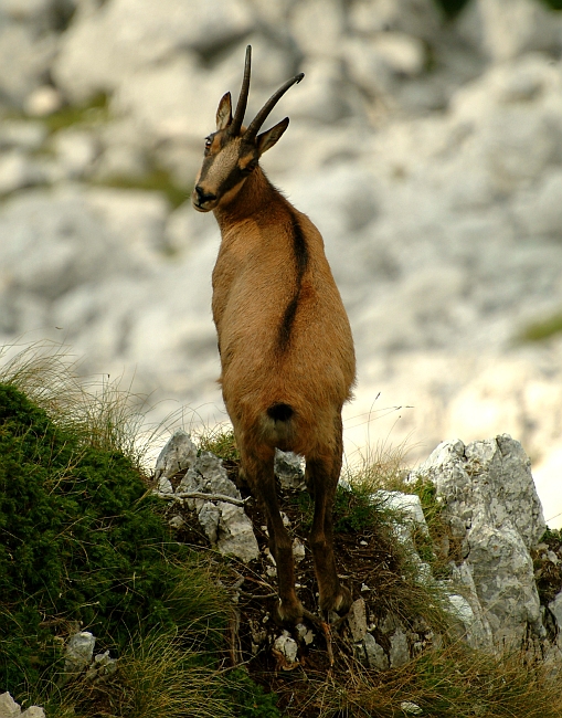
[[310,531],[310,548],[315,561],[320,593],[320,611],[346,613],[351,605],[349,590],[340,584],[333,555],[333,499],[341,471],[341,418],[336,422],[336,436],[331,446],[317,456],[307,458],[306,483],[314,497],[315,516]]

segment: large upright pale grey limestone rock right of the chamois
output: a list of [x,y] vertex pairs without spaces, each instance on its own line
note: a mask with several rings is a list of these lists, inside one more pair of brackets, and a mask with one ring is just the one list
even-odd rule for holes
[[505,434],[444,442],[414,473],[433,481],[445,520],[463,534],[471,574],[494,644],[521,645],[531,630],[542,637],[540,603],[529,549],[545,524],[521,444]]

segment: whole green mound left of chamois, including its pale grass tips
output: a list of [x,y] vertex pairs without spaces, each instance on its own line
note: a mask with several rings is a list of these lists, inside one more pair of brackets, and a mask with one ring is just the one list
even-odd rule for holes
[[[0,687],[59,718],[273,718],[274,696],[218,671],[222,569],[171,539],[127,404],[40,347],[0,370]],[[77,630],[118,658],[110,679],[65,675]]]

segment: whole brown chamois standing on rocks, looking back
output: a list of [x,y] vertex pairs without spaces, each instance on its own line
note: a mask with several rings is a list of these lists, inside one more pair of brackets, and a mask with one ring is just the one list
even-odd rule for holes
[[241,472],[261,503],[277,563],[276,616],[298,623],[293,548],[275,489],[275,448],[306,457],[314,497],[309,545],[322,613],[347,612],[351,594],[336,572],[332,507],[341,471],[341,408],[356,377],[349,320],[312,222],[275,188],[261,156],[287,129],[288,117],[258,135],[279,98],[304,75],[288,80],[246,128],[251,52],[234,116],[226,93],[216,131],[206,137],[192,193],[200,212],[213,211],[221,246],[212,275],[213,319],[222,392],[241,454]]

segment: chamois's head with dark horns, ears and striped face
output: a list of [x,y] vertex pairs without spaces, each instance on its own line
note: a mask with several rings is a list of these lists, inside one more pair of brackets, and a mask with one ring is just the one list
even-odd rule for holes
[[234,116],[231,94],[226,93],[216,110],[216,131],[205,139],[203,163],[191,196],[193,207],[200,212],[209,212],[220,204],[231,202],[257,167],[262,155],[275,145],[289,124],[289,118],[285,117],[271,129],[257,134],[280,97],[291,85],[303,80],[303,73],[287,80],[269,97],[247,128],[242,126],[250,91],[251,59],[252,47],[248,45],[242,89]]

